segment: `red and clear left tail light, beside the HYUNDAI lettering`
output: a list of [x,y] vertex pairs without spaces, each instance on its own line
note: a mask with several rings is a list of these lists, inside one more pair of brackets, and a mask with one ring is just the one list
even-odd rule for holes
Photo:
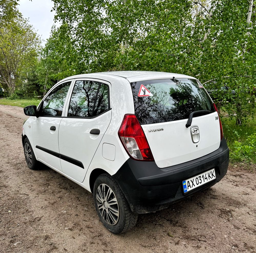
[[134,114],[125,114],[118,136],[131,158],[154,161],[146,136]]

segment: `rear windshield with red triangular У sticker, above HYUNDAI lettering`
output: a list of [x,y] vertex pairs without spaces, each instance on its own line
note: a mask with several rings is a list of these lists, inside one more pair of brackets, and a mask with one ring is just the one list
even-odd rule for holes
[[195,79],[138,81],[132,82],[131,88],[141,125],[188,119],[193,111],[215,111],[209,95]]

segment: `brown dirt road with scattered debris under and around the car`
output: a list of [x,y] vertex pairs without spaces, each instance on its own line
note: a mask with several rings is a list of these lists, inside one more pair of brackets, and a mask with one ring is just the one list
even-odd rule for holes
[[93,197],[57,172],[26,166],[23,108],[0,105],[0,252],[256,252],[256,175],[221,182],[113,235]]

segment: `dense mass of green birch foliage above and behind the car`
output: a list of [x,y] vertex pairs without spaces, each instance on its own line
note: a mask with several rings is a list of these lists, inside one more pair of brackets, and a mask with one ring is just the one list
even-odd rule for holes
[[[211,5],[191,0],[53,2],[62,25],[53,28],[44,49],[41,85],[47,73],[47,87],[68,75],[87,72],[185,73],[216,90],[214,101],[239,122],[251,114],[256,23],[255,7],[252,22],[247,23],[247,0],[219,0]],[[223,85],[235,94],[223,92]]]

